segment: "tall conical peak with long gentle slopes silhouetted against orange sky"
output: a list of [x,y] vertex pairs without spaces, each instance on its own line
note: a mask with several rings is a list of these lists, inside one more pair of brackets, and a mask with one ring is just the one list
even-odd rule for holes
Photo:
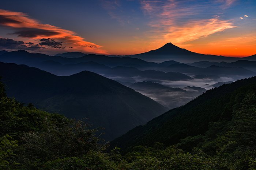
[[[186,49],[177,47],[172,43],[167,43],[163,47],[157,50],[151,50],[141,54],[130,55],[132,58],[140,58],[146,61],[163,62],[166,60],[175,60],[178,62],[195,62],[195,61],[237,61],[241,58],[224,57],[216,55],[198,54],[188,51]],[[250,59],[256,60],[256,58],[250,57]]]

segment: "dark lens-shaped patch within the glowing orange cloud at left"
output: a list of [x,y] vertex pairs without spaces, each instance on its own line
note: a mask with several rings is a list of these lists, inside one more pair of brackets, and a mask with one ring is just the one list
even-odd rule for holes
[[18,37],[28,37],[28,38],[34,38],[38,36],[53,36],[53,35],[59,35],[59,32],[56,31],[49,31],[45,29],[36,29],[36,28],[27,28],[26,30],[17,31],[14,33],[11,33],[11,35],[18,35]]

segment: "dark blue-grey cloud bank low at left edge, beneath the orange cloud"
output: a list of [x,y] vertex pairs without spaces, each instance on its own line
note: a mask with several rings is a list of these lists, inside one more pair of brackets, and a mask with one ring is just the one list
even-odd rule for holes
[[[28,44],[28,45],[26,45]],[[0,38],[0,49],[10,49],[10,50],[39,50],[44,49],[44,47],[39,46],[34,43],[24,43],[23,41],[16,41],[9,38]]]

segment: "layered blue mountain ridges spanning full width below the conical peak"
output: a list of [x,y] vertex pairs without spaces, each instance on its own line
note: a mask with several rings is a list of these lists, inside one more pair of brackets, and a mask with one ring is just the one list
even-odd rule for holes
[[[120,58],[91,54],[80,58],[63,58],[61,56],[49,56],[38,53],[33,54],[24,50],[5,52],[4,54],[0,55],[0,61],[26,64],[28,66],[37,67],[41,70],[45,70],[56,75],[72,75],[87,70],[96,72],[120,82],[131,83],[138,82],[138,80],[136,80],[137,78],[139,78],[140,81],[151,81],[155,78],[174,81],[185,80],[191,79],[191,77],[188,75],[200,75],[202,73],[213,76],[234,75],[235,77],[233,79],[240,79],[255,75],[255,72],[246,70],[245,68],[237,68],[237,65],[234,65],[233,67],[228,66],[228,64],[227,66],[218,66],[218,64],[215,64],[216,62],[208,62],[211,63],[210,66],[207,68],[202,68],[173,60],[158,64],[130,57]],[[202,63],[199,63],[199,65],[200,64]],[[252,68],[252,70],[256,70],[256,65],[254,67],[252,64],[248,66],[250,66],[249,68]],[[163,72],[169,73],[167,74]]]

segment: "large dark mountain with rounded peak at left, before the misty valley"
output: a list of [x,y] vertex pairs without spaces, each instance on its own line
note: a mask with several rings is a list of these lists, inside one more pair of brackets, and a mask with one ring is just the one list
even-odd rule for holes
[[105,128],[103,137],[107,140],[166,111],[139,92],[89,71],[56,76],[38,68],[0,62],[0,75],[8,96],[69,118],[88,118],[89,123]]

